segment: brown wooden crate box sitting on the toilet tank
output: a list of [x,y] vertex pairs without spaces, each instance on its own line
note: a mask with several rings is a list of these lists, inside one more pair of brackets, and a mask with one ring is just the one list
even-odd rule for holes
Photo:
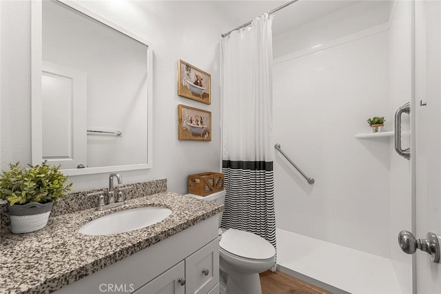
[[198,173],[188,176],[188,193],[207,196],[223,190],[223,173]]

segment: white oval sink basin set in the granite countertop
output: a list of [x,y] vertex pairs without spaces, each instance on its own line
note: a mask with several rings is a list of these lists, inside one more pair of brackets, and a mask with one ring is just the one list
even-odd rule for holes
[[94,219],[79,229],[85,235],[110,235],[138,230],[151,226],[172,214],[165,207],[132,208]]

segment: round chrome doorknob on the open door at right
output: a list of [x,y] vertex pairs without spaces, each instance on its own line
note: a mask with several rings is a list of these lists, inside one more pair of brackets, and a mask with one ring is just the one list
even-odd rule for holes
[[440,262],[440,243],[438,237],[434,233],[427,233],[427,239],[416,239],[416,237],[409,231],[401,231],[398,234],[398,244],[401,250],[407,254],[413,254],[417,249],[429,254],[432,262]]

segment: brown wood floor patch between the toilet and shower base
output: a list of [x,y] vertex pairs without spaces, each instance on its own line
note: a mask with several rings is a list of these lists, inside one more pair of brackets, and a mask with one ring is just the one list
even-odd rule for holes
[[331,294],[331,292],[280,271],[260,273],[260,284],[262,285],[262,294]]

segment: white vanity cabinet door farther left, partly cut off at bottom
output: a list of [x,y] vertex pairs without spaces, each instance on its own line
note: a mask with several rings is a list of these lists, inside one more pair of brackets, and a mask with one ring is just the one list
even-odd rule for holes
[[[185,294],[185,265],[179,262],[165,273],[148,282],[133,293],[136,294]],[[181,285],[183,283],[184,285]]]

